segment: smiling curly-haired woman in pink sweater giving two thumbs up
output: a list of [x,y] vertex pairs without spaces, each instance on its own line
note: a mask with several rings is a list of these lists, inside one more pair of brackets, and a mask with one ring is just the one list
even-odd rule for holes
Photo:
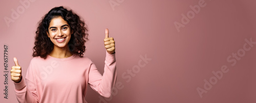
[[[51,9],[39,22],[33,59],[24,79],[14,57],[11,79],[19,102],[87,102],[88,84],[104,97],[110,97],[116,82],[115,41],[105,30],[106,48],[103,75],[83,57],[88,40],[86,24],[72,10]],[[25,81],[26,80],[26,81]]]

